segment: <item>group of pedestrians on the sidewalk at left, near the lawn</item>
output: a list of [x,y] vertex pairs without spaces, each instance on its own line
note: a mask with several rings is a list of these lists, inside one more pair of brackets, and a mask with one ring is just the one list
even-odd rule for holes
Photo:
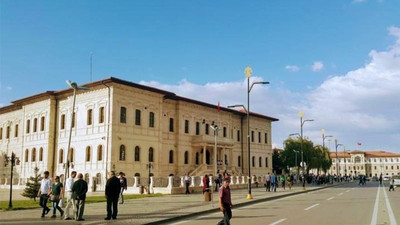
[[[77,178],[75,180],[75,178]],[[124,203],[123,192],[127,190],[127,180],[123,172],[116,176],[114,171],[108,173],[108,180],[105,187],[105,198],[107,200],[107,216],[105,220],[117,219],[118,201]],[[60,182],[60,177],[56,176],[54,182],[49,178],[49,172],[43,173],[43,179],[37,196],[40,197],[39,205],[42,207],[41,217],[45,217],[51,209],[47,206],[48,201],[51,202],[53,215],[51,218],[57,217],[57,210],[60,217],[65,220],[84,221],[86,193],[88,192],[88,184],[83,179],[82,173],[76,171],[71,172],[71,176],[66,179],[65,185]],[[66,198],[65,211],[62,210],[60,204]],[[71,208],[73,213],[71,212]]]

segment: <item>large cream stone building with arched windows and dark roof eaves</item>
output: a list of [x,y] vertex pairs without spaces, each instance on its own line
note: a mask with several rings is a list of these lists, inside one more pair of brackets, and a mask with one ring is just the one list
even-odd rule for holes
[[[148,177],[170,174],[247,173],[247,118],[240,111],[188,99],[172,92],[109,78],[78,91],[72,120],[73,90],[48,91],[0,108],[1,161],[14,152],[20,162],[13,183],[23,185],[35,167],[62,175],[72,122],[69,158],[90,184],[103,186],[107,171]],[[271,122],[251,113],[252,174],[272,169]],[[218,125],[217,149],[210,125]],[[0,185],[9,183],[9,165],[0,167]]]

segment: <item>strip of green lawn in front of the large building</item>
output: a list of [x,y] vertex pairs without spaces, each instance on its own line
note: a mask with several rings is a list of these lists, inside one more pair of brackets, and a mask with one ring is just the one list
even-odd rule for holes
[[[162,196],[163,196],[163,194],[150,194],[150,195],[127,194],[127,195],[124,195],[124,200],[150,198],[150,197],[162,197]],[[106,198],[104,196],[88,196],[86,198],[86,204],[96,203],[96,202],[106,202]],[[51,203],[48,202],[47,205],[50,207]],[[12,209],[8,208],[8,201],[0,201],[0,208],[1,208],[1,210],[24,210],[24,209],[40,208],[39,198],[36,199],[36,202],[33,200],[14,200]]]

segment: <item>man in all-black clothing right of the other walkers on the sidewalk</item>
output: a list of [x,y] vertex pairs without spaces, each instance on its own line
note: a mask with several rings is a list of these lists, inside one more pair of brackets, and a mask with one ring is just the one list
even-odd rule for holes
[[[108,180],[106,184],[106,198],[107,198],[107,217],[105,220],[117,219],[118,213],[118,197],[121,191],[121,183],[115,176],[115,172],[111,171],[108,173]],[[112,210],[111,210],[112,206]]]

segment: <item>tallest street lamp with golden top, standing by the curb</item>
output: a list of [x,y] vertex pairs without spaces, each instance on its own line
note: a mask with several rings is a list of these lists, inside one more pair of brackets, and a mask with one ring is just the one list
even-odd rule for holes
[[[269,82],[267,81],[255,81],[250,85],[250,77],[252,74],[253,70],[251,69],[251,67],[246,67],[246,69],[244,69],[244,74],[247,78],[247,165],[248,165],[248,172],[249,175],[247,177],[248,179],[248,190],[249,193],[247,194],[247,199],[253,199],[253,196],[251,195],[251,167],[250,167],[250,92],[251,89],[253,89],[253,86],[255,84],[269,84]],[[242,106],[244,108],[244,106]]]

